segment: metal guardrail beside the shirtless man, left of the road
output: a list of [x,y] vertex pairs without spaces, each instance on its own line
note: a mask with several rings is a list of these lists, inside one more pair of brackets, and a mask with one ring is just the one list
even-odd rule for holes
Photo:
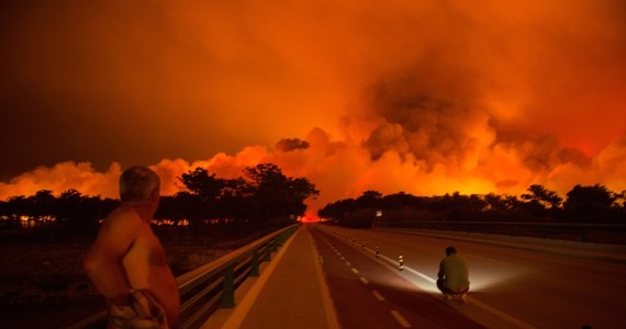
[[[259,266],[271,260],[299,225],[286,227],[222,258],[176,279],[181,306],[177,328],[199,328],[220,307],[235,306],[235,290],[249,276],[259,275]],[[107,311],[98,313],[69,329],[107,327]]]

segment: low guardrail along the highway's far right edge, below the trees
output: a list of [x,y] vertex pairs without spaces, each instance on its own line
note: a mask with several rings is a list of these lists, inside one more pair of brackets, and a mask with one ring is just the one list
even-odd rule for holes
[[511,237],[626,245],[625,224],[507,223],[507,222],[375,222],[379,228],[415,228]]

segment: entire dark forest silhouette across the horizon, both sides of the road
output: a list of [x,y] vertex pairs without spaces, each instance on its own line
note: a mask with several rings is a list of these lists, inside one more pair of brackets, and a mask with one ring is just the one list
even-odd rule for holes
[[[178,180],[180,191],[161,196],[155,219],[167,219],[174,229],[195,232],[215,227],[251,231],[286,226],[304,215],[306,198],[320,194],[308,179],[286,177],[272,163],[248,167],[236,179],[217,178],[199,167]],[[383,196],[377,191],[366,191],[359,197],[327,204],[318,211],[318,216],[343,226],[364,228],[372,226],[377,212],[384,214],[387,222],[624,224],[625,194],[626,191],[615,193],[600,184],[575,185],[564,197],[538,184],[530,185],[519,196],[459,192],[435,196],[399,192]],[[118,200],[82,195],[77,190],[58,196],[42,190],[32,196],[19,195],[0,202],[0,229],[14,231],[11,228],[22,227],[21,218],[27,216],[34,227],[18,229],[21,239],[24,231],[32,231],[30,237],[37,241],[90,237],[99,220],[118,203]]]

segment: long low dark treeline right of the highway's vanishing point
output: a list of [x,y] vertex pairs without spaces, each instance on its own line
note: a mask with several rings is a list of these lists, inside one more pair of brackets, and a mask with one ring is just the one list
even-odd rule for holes
[[366,191],[318,211],[322,218],[348,227],[371,227],[381,222],[518,222],[626,224],[626,191],[604,185],[575,185],[564,197],[534,184],[519,196],[499,194],[415,196],[404,192],[383,196]]

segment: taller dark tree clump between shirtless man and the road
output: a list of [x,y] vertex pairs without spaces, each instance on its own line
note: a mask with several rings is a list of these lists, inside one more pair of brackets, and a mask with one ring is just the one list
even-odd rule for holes
[[237,179],[221,179],[204,168],[183,173],[182,190],[164,196],[156,218],[205,224],[287,224],[304,215],[304,201],[320,191],[305,178],[286,177],[272,163],[248,167]]

